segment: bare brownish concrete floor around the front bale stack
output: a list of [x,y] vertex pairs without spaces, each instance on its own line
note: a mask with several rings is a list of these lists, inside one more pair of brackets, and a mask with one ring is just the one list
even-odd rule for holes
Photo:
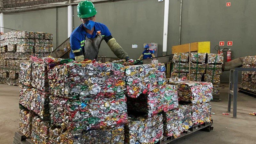
[[[222,115],[227,112],[228,85],[220,89],[221,102],[212,102],[213,131],[195,132],[191,137],[180,138],[176,144],[256,144],[256,98],[238,93],[237,118]],[[19,87],[0,84],[0,144],[10,144],[14,132],[19,130]],[[232,108],[232,107],[231,107]]]

